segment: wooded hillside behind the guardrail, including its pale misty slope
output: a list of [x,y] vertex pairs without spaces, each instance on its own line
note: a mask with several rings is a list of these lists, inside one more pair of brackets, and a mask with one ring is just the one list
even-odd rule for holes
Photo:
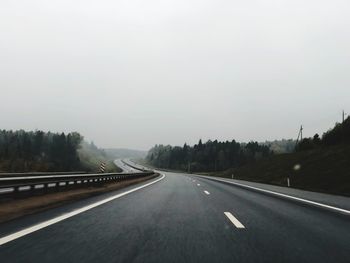
[[120,171],[113,157],[77,132],[0,130],[0,172]]

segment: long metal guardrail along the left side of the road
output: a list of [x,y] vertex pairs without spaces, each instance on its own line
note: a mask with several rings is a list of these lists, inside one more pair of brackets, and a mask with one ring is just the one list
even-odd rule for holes
[[0,178],[0,197],[34,190],[61,189],[64,186],[98,185],[153,175],[151,171],[140,173],[64,174]]

